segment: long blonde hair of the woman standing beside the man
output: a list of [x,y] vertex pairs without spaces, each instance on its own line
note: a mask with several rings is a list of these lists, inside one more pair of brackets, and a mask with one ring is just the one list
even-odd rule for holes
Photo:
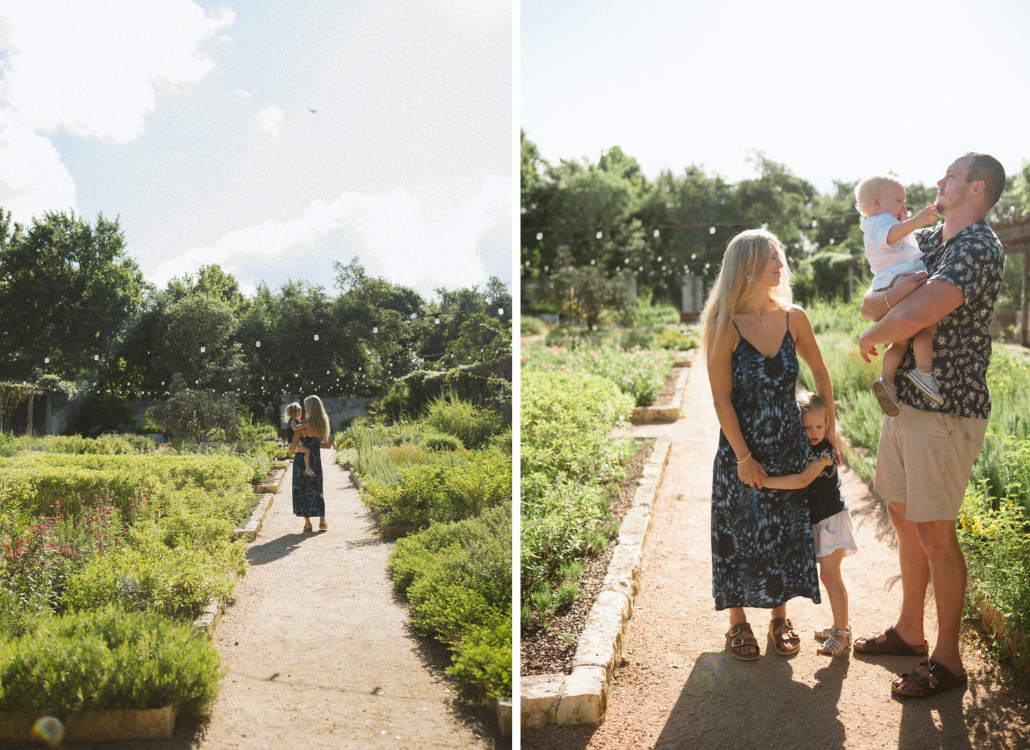
[[783,262],[780,283],[769,289],[769,299],[781,309],[793,302],[790,288],[790,268],[783,251],[783,243],[771,232],[749,229],[733,237],[726,245],[722,268],[712,285],[705,311],[701,312],[701,348],[711,361],[730,327],[730,318],[761,283],[765,264],[776,252]]

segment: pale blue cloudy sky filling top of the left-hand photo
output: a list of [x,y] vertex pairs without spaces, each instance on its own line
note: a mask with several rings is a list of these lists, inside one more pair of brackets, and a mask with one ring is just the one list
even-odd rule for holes
[[510,282],[511,24],[508,0],[2,0],[0,206],[116,215],[159,285],[331,287],[355,254],[424,295]]

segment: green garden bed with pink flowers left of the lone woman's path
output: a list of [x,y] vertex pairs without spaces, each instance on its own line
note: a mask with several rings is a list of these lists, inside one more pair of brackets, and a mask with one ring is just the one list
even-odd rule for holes
[[69,739],[167,737],[176,712],[203,716],[217,694],[217,652],[194,620],[210,630],[246,568],[234,526],[260,525],[273,497],[248,482],[282,473],[75,452],[0,459],[3,737],[26,739],[42,713]]

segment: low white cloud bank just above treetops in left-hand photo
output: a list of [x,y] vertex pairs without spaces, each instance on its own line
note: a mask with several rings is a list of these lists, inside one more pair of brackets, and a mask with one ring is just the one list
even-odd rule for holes
[[422,202],[402,190],[343,193],[330,203],[312,202],[294,218],[266,219],[191,247],[149,276],[164,286],[174,276],[218,264],[247,293],[288,278],[322,279],[332,287],[333,263],[357,255],[370,273],[425,296],[438,286],[482,285],[491,275],[510,281],[510,206],[509,181],[500,177],[488,177],[448,220],[427,217]]

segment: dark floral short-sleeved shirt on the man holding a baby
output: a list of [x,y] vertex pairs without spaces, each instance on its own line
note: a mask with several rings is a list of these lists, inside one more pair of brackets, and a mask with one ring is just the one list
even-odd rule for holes
[[937,406],[904,374],[916,367],[912,347],[895,379],[898,401],[956,416],[987,419],[991,391],[987,366],[991,363],[991,317],[1001,288],[1005,251],[986,220],[975,221],[938,246],[943,226],[916,232],[929,278],[949,281],[965,296],[965,304],[941,318],[933,337],[933,373],[945,399]]

